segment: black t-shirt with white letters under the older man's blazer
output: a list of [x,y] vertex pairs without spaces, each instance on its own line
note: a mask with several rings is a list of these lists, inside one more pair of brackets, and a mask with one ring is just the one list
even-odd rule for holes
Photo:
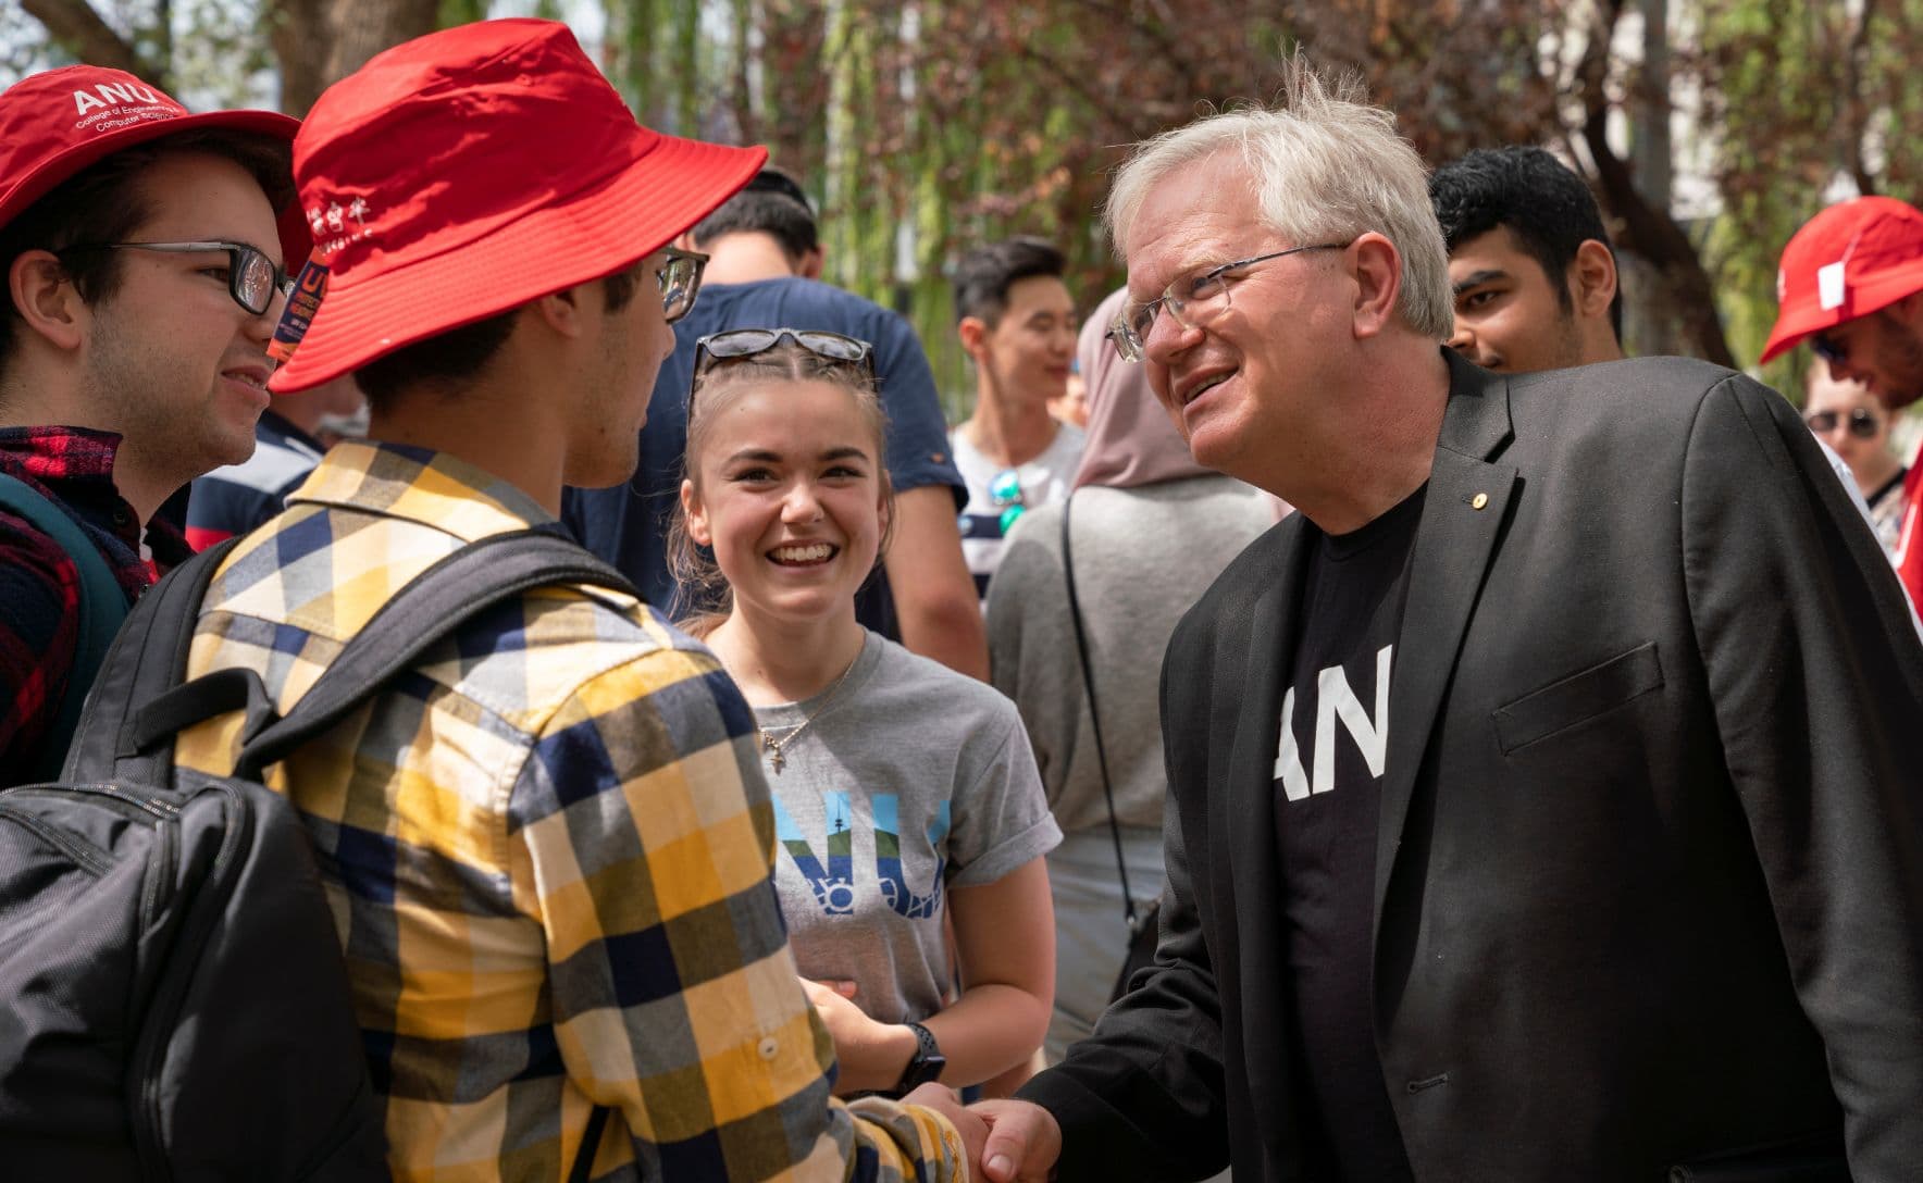
[[1421,512],[1417,489],[1369,525],[1315,541],[1275,758],[1298,1070],[1352,1183],[1410,1179],[1375,1054],[1369,921],[1388,681]]

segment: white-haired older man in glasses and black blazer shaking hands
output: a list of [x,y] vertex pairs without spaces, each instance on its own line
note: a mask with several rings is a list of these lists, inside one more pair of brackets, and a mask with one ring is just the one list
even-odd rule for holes
[[1156,964],[985,1175],[1913,1179],[1923,646],[1796,412],[1444,352],[1421,162],[1302,62],[1108,219],[1115,346],[1300,512],[1169,642]]

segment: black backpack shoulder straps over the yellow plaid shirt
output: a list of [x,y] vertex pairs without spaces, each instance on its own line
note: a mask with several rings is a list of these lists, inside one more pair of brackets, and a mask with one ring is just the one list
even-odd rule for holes
[[[129,627],[121,633],[125,646],[115,642],[115,652],[108,654],[102,681],[110,673],[115,677],[112,700],[98,704],[98,719],[96,704],[88,702],[83,727],[94,727],[96,721],[112,727],[94,735],[115,737],[112,764],[106,766],[113,777],[169,783],[177,731],[244,710],[244,746],[235,775],[258,779],[262,769],[331,727],[492,604],[546,585],[590,585],[638,596],[619,571],[554,533],[529,529],[481,539],[394,592],[283,719],[275,716],[265,687],[252,669],[221,669],[181,683],[200,602],[213,567],[231,546],[231,541],[223,542],[169,573],[135,608],[137,616],[148,614],[148,631],[133,635],[135,619],[129,617]],[[121,648],[127,652],[119,652]],[[96,771],[104,768],[98,754],[79,762],[83,746],[88,744],[75,744],[65,779],[106,779]]]

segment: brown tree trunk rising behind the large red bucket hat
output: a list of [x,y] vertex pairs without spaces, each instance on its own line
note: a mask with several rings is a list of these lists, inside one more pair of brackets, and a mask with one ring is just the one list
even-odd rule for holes
[[281,110],[306,115],[331,83],[388,46],[438,27],[438,0],[273,0],[265,13],[281,62]]

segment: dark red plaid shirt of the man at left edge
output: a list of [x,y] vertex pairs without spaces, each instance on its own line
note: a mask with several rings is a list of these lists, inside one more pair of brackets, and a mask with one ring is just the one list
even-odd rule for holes
[[[81,523],[131,604],[190,554],[163,521],[146,531],[113,489],[119,437],[85,427],[0,427],[0,471],[25,481]],[[60,542],[0,510],[0,787],[25,779],[40,756],[73,671],[81,577]]]

